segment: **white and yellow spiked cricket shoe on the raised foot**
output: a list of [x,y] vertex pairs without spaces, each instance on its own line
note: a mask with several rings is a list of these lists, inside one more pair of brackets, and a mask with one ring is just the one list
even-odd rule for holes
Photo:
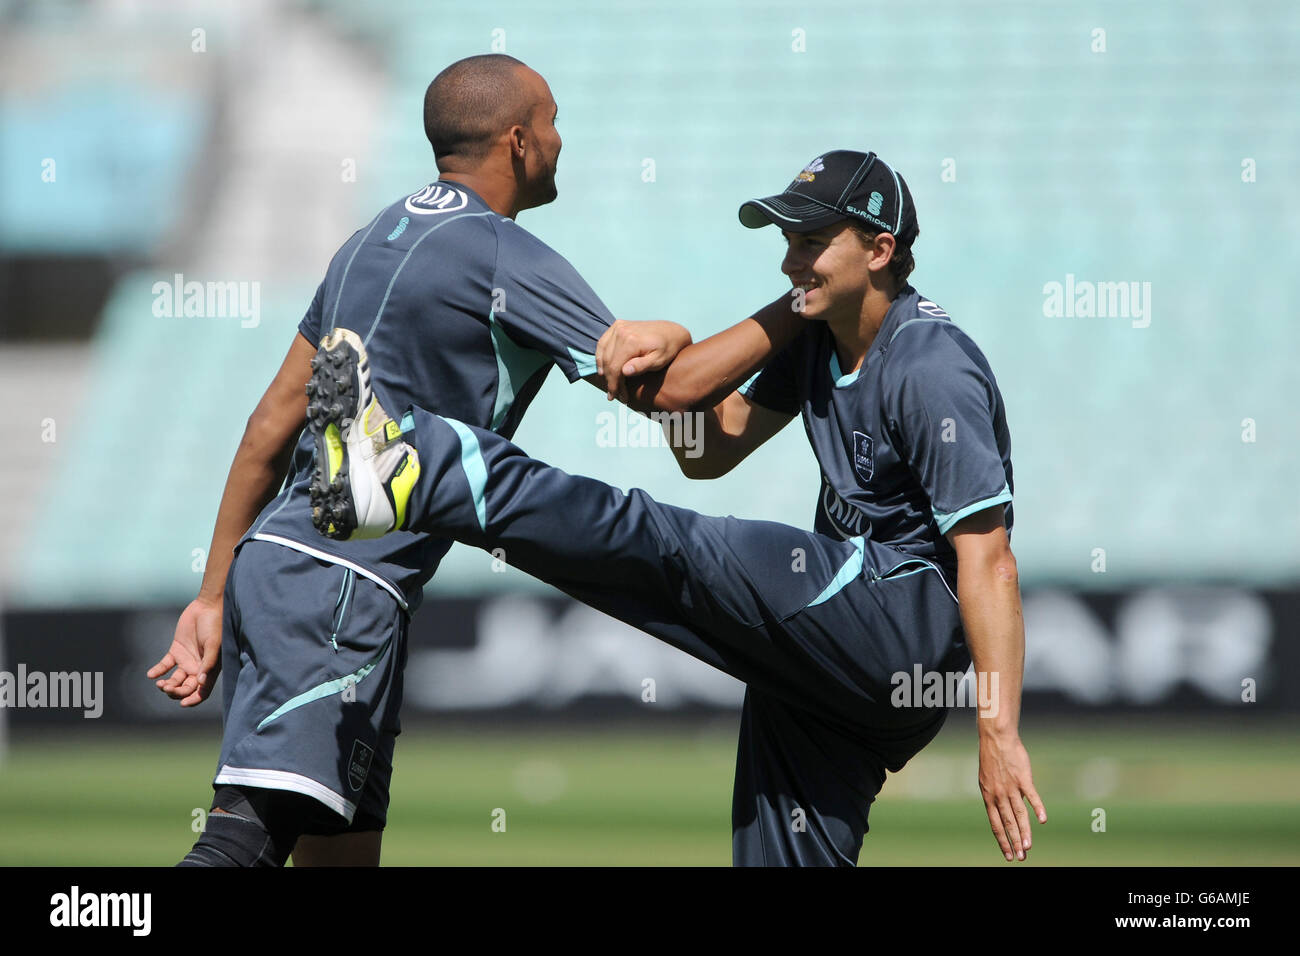
[[307,427],[316,438],[312,524],[339,541],[373,538],[406,524],[420,455],[370,390],[360,336],[334,329],[321,339],[307,382]]

